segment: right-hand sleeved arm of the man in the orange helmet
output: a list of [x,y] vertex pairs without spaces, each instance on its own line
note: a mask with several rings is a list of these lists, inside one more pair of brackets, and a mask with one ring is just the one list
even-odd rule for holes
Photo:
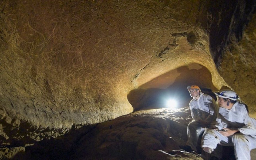
[[205,105],[208,104],[210,114],[208,115],[208,117],[205,120],[208,124],[210,124],[212,121],[214,121],[217,118],[219,107],[212,98],[208,99],[208,101],[210,101],[210,102],[209,103],[205,102]]

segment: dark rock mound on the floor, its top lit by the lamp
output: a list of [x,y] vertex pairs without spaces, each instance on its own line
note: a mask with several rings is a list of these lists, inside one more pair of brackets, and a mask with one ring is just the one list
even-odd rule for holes
[[[89,159],[104,159],[105,156],[113,156],[111,159],[157,159],[163,154],[159,150],[173,154],[173,150],[180,150],[179,144],[184,144],[187,137],[186,122],[191,120],[191,116],[184,117],[189,115],[190,110],[187,108],[186,111],[183,109],[178,112],[156,109],[116,118],[97,125],[90,134],[85,135],[75,155]],[[173,157],[163,155],[170,159]],[[182,156],[174,157],[182,159]]]

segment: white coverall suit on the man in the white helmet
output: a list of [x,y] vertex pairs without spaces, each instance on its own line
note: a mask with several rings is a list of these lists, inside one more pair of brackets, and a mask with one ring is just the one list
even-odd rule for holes
[[250,160],[251,149],[256,148],[256,121],[250,118],[244,104],[236,102],[230,110],[220,107],[215,127],[218,130],[238,129],[240,133],[228,137],[214,129],[204,132],[201,147],[215,149],[217,144],[234,146],[237,160]]

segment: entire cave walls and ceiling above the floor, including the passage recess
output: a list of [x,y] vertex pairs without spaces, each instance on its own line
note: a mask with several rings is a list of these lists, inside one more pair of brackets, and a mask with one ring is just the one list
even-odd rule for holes
[[254,114],[255,4],[0,1],[1,147],[163,107],[194,83],[233,88]]

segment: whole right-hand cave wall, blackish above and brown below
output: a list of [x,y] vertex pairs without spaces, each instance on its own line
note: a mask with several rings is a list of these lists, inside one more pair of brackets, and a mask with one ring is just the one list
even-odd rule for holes
[[225,82],[256,117],[256,1],[213,3],[210,52]]

